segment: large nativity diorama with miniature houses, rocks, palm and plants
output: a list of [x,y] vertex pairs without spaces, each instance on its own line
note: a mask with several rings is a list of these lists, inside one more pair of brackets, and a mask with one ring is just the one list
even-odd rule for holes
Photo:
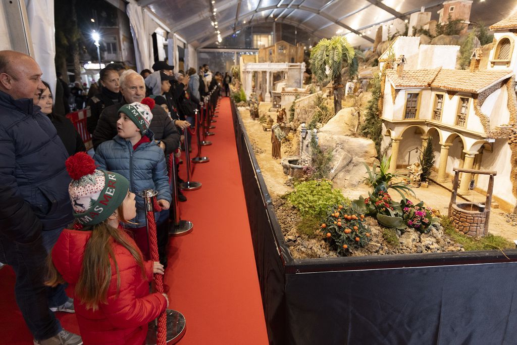
[[472,5],[381,26],[367,51],[334,36],[284,70],[242,61],[234,99],[295,258],[514,247],[517,15],[481,44]]

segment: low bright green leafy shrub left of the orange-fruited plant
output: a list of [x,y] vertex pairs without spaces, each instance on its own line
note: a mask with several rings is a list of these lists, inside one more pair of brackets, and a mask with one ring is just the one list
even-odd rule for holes
[[341,190],[332,188],[332,182],[323,179],[295,185],[294,191],[288,193],[287,200],[299,209],[302,217],[322,219],[332,205],[345,204],[347,199]]

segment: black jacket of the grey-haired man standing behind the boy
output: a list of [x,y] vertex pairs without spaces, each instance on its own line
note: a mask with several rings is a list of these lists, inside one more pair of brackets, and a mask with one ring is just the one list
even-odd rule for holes
[[[112,140],[117,135],[118,109],[124,104],[127,104],[125,99],[120,103],[104,108],[92,138],[94,149],[97,149],[97,146],[104,141]],[[165,144],[165,155],[171,154],[179,147],[179,133],[176,126],[172,124],[169,115],[162,107],[155,105],[151,113],[153,113],[153,119],[149,129],[155,133],[156,140],[161,140]]]

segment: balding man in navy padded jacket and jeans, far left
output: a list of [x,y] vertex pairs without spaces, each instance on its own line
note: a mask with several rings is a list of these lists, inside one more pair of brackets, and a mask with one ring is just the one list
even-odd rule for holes
[[49,309],[69,302],[63,287],[50,292],[43,284],[47,253],[73,219],[68,154],[34,105],[44,88],[32,57],[0,51],[0,262],[16,274],[16,301],[39,343],[80,344]]

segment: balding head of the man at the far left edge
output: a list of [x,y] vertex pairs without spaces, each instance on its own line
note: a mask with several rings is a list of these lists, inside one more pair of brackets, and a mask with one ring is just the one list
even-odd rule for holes
[[41,69],[26,54],[12,50],[0,51],[0,91],[14,99],[33,98],[37,103],[41,83]]

